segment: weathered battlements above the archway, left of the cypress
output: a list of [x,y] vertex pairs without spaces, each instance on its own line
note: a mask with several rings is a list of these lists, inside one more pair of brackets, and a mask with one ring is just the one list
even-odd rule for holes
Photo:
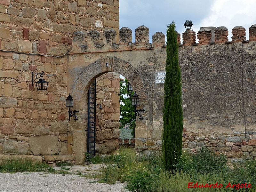
[[148,50],[165,45],[165,35],[162,32],[156,32],[152,36],[153,42],[149,43],[149,29],[144,25],[135,29],[135,43],[132,43],[130,28],[124,27],[119,30],[118,44],[116,44],[116,35],[113,29],[105,29],[102,32],[91,30],[87,36],[82,31],[74,32],[71,53]]

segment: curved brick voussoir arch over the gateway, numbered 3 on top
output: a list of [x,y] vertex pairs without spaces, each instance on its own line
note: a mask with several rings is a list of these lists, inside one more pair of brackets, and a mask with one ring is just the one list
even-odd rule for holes
[[84,101],[87,97],[89,86],[95,78],[107,72],[116,72],[123,75],[132,88],[141,98],[142,103],[147,103],[148,93],[140,73],[128,62],[119,58],[102,58],[94,61],[86,67],[82,67],[81,74],[76,79],[74,89],[72,91],[73,99],[76,101]]

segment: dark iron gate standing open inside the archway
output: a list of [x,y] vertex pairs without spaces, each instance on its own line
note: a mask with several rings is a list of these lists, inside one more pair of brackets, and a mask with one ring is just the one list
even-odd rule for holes
[[96,79],[88,90],[88,128],[87,128],[87,153],[88,157],[95,156],[96,132]]

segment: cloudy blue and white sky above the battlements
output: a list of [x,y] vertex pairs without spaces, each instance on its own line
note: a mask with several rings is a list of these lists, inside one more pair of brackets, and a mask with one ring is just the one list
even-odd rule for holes
[[[132,29],[135,42],[135,28],[145,25],[149,28],[149,41],[156,32],[166,35],[166,25],[173,20],[176,30],[182,34],[186,20],[193,22],[196,32],[200,27],[228,28],[228,40],[231,41],[231,30],[235,26],[246,29],[256,24],[256,0],[119,0],[120,28]],[[182,42],[181,42],[182,43]]]

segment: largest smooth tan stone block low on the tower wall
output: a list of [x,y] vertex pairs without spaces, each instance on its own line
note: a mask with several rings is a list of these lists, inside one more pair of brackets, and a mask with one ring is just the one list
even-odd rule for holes
[[28,144],[34,155],[54,155],[57,153],[58,136],[32,136],[28,138]]

